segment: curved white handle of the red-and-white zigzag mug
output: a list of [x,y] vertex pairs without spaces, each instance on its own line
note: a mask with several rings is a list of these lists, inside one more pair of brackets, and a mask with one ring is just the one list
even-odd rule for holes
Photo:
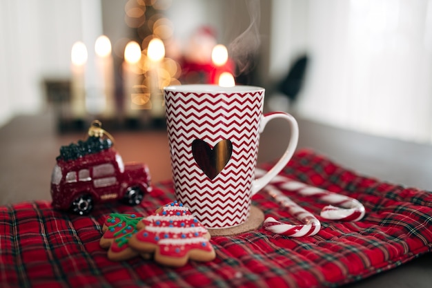
[[275,118],[282,118],[288,122],[291,128],[290,140],[288,146],[286,147],[286,151],[284,152],[284,155],[282,155],[279,161],[277,161],[275,166],[273,166],[262,177],[253,180],[251,196],[255,195],[255,193],[257,193],[259,190],[264,188],[264,186],[266,186],[268,182],[270,182],[280,171],[282,171],[282,169],[284,169],[284,166],[286,166],[288,161],[291,160],[291,157],[293,157],[295,148],[297,148],[297,142],[299,140],[299,126],[297,124],[297,120],[288,113],[272,112],[264,115],[264,117],[262,117],[261,119],[259,133],[261,134],[262,131],[264,131],[264,128],[266,128],[266,124]]

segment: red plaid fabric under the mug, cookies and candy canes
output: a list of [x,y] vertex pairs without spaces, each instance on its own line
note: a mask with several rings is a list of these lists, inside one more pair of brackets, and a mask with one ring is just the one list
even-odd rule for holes
[[[282,175],[360,200],[364,219],[324,220],[318,216],[324,203],[283,191],[321,220],[317,235],[287,238],[261,228],[214,237],[214,261],[173,269],[140,257],[112,262],[99,247],[109,213],[153,213],[173,200],[172,182],[157,184],[138,207],[110,204],[87,217],[55,211],[50,202],[23,202],[0,207],[0,286],[335,287],[431,251],[432,193],[362,177],[312,151],[296,153]],[[253,204],[298,223],[264,192]]]

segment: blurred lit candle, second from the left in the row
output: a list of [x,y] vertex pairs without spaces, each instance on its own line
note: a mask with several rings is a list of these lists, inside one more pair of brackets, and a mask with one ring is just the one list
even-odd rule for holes
[[101,94],[103,116],[112,117],[115,114],[114,99],[114,63],[111,55],[111,42],[108,37],[101,35],[95,42],[98,90]]

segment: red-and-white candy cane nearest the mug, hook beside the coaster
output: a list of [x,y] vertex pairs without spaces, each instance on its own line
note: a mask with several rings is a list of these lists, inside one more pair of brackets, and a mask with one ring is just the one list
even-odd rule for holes
[[294,215],[297,220],[304,223],[298,225],[284,224],[275,220],[273,217],[268,217],[263,224],[266,230],[290,237],[313,236],[320,231],[320,220],[317,220],[314,215],[295,204],[295,202],[283,195],[282,192],[277,190],[274,186],[268,185],[266,186],[266,190],[277,202],[280,202],[282,206],[288,209],[288,213]]

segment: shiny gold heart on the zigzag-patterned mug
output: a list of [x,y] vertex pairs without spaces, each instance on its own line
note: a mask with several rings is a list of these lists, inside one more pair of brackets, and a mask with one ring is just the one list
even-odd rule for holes
[[226,166],[233,153],[230,140],[221,140],[211,148],[204,140],[192,142],[192,154],[199,168],[213,180]]

